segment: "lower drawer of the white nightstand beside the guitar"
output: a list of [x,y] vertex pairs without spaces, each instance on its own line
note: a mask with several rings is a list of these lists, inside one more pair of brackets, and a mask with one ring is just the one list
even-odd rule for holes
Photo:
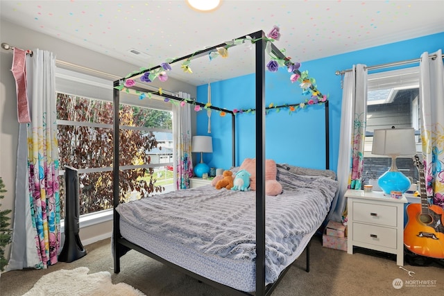
[[395,228],[353,223],[353,240],[389,247],[393,250],[397,248]]

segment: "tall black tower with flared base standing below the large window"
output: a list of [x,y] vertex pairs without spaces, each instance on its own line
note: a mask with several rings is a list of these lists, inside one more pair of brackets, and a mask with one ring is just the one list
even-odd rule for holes
[[79,184],[77,169],[65,166],[65,243],[58,261],[72,262],[86,255],[78,231]]

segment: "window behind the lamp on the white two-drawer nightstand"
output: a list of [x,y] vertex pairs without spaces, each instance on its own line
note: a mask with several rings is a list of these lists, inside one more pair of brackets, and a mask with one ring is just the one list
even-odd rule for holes
[[[416,150],[420,145],[419,69],[412,67],[368,75],[367,123],[362,184],[377,186],[377,179],[388,171],[391,158],[373,155],[373,130],[379,128],[414,128]],[[418,181],[418,171],[409,157],[398,157],[398,169]]]

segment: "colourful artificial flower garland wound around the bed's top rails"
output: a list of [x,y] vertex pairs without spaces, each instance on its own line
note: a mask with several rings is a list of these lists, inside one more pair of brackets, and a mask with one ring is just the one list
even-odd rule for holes
[[[275,110],[275,112],[280,112],[281,109],[289,110],[289,114],[292,112],[295,112],[298,109],[304,109],[305,107],[309,105],[317,105],[322,104],[327,101],[327,95],[321,94],[321,92],[316,87],[316,80],[314,78],[310,78],[308,71],[299,71],[299,68],[301,66],[300,62],[291,62],[290,57],[286,58],[278,58],[271,52],[271,42],[274,42],[275,40],[280,39],[280,29],[278,26],[273,26],[271,31],[266,35],[266,37],[252,39],[249,35],[247,35],[244,38],[236,39],[236,40],[230,40],[228,42],[225,42],[225,46],[216,47],[215,51],[210,51],[208,53],[208,57],[210,60],[217,58],[218,56],[221,56],[222,58],[228,58],[228,49],[232,46],[237,46],[240,44],[244,44],[248,47],[248,49],[253,48],[253,44],[259,40],[266,40],[266,53],[270,56],[271,60],[266,64],[266,68],[268,71],[276,72],[278,71],[279,67],[287,67],[287,71],[291,73],[290,80],[291,82],[299,82],[299,86],[302,89],[302,95],[303,96],[310,96],[310,98],[306,98],[305,102],[302,103],[293,103],[293,104],[285,104],[285,105],[274,105],[274,103],[270,103],[268,107],[266,107],[266,114],[270,112],[270,110]],[[281,50],[282,53],[285,53],[285,50]],[[191,60],[194,57],[193,53],[187,60],[182,62],[182,65],[180,68],[185,71],[186,73],[193,73],[191,70]],[[153,82],[156,78],[158,78],[160,81],[165,82],[168,80],[168,74],[167,71],[171,71],[171,65],[170,63],[173,62],[173,59],[167,59],[165,62],[162,62],[160,64],[160,67],[157,69],[153,69],[151,71],[146,71],[148,68],[140,68],[140,71],[135,71],[133,73],[128,74],[123,80],[120,81],[119,85],[114,87],[115,89],[119,89],[119,91],[127,92],[128,94],[132,93],[139,95],[139,99],[142,100],[144,98],[152,98],[152,95],[158,95],[162,96],[163,91],[162,87],[159,87],[157,89],[157,92],[139,92],[138,90],[130,89],[131,87],[134,87],[136,85],[136,81],[133,79],[130,79],[131,77],[135,76],[135,74],[140,73],[142,71],[146,71],[145,73],[140,76],[141,82]],[[202,109],[207,110],[207,112],[211,112],[210,107],[212,106],[211,103],[206,103],[203,105],[203,108],[200,105],[196,104],[196,101],[191,100],[189,98],[182,98],[178,101],[176,100],[170,100],[169,98],[164,98],[165,102],[171,102],[175,105],[184,106],[186,103],[191,103],[194,105],[194,111],[199,112]],[[233,109],[233,114],[244,114],[244,113],[255,113],[255,109]],[[219,116],[225,116],[226,112],[223,110],[219,110]]]

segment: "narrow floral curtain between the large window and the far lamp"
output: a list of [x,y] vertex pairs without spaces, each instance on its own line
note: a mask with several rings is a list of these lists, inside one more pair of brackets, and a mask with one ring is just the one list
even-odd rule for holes
[[173,105],[173,141],[176,149],[173,162],[176,164],[174,183],[176,190],[189,188],[193,176],[191,156],[191,107],[188,103]]

